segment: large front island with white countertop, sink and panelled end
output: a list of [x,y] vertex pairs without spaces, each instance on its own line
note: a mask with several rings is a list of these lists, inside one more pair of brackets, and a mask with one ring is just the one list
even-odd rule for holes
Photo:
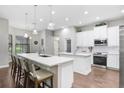
[[38,53],[18,54],[28,60],[29,63],[35,64],[42,69],[54,73],[54,88],[70,88],[73,83],[73,58],[59,56],[39,56]]

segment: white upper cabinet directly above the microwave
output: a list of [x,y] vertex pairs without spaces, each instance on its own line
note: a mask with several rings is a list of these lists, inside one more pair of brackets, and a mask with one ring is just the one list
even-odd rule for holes
[[107,39],[107,25],[94,27],[94,39]]

